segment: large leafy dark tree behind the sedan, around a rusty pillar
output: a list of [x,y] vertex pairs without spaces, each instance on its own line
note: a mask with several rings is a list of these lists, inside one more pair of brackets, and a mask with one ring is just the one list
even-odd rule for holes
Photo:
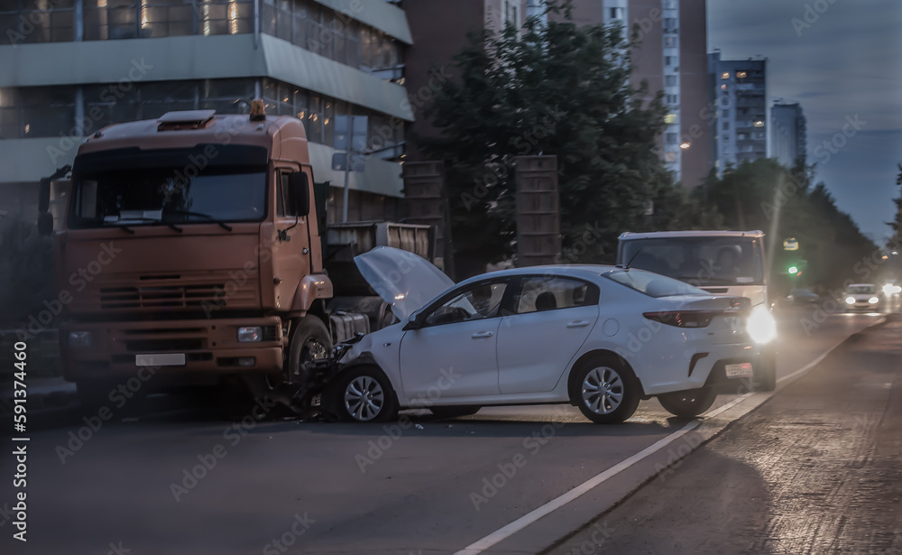
[[[619,26],[577,26],[569,3],[548,2],[548,23],[471,35],[426,112],[437,138],[414,140],[447,168],[456,257],[480,265],[515,252],[513,157],[556,154],[565,250],[581,261],[611,261],[621,230],[672,186],[658,158],[662,94],[630,87],[630,46]],[[634,35],[635,36],[635,35]],[[666,185],[665,185],[666,184]],[[665,193],[662,193],[665,194]]]

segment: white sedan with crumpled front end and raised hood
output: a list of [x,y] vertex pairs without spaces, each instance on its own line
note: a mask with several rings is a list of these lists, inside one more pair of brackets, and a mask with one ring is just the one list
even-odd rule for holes
[[772,320],[748,318],[748,300],[644,270],[537,266],[455,285],[405,251],[355,260],[400,321],[341,359],[323,402],[345,421],[572,403],[612,423],[652,396],[691,417],[710,408],[716,386],[760,379],[753,341],[773,334]]

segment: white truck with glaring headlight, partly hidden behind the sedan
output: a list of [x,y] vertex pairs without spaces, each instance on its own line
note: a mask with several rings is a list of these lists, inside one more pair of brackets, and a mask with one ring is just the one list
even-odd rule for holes
[[[746,328],[757,350],[752,384],[758,391],[777,385],[777,324],[768,297],[762,231],[657,231],[623,233],[617,264],[661,273],[718,295],[751,301]],[[726,376],[712,374],[713,384]]]

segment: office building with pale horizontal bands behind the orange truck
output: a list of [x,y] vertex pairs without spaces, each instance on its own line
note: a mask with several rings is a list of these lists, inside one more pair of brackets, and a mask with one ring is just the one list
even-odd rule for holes
[[[105,125],[171,110],[242,113],[262,97],[269,114],[303,120],[314,175],[339,187],[336,117],[367,116],[367,145],[379,153],[351,175],[350,217],[391,217],[400,204],[412,40],[397,3],[14,0],[0,7],[0,27],[9,31],[0,37],[5,203],[32,201],[10,191],[33,190],[36,199],[37,181],[71,163]],[[340,214],[341,195],[333,198]]]

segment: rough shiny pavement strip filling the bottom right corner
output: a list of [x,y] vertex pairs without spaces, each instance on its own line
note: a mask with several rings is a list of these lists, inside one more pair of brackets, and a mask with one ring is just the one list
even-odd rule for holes
[[544,552],[902,553],[900,456],[896,317]]

